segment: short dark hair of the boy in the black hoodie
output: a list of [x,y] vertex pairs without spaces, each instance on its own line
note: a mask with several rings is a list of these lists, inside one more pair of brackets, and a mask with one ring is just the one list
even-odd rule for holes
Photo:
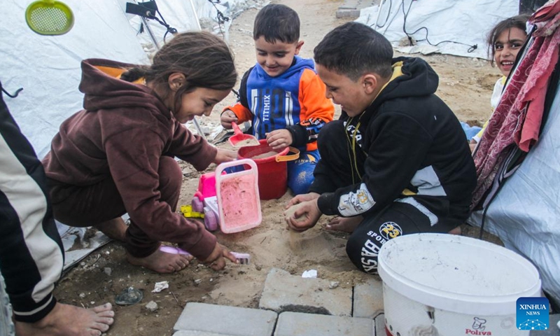
[[316,64],[354,81],[364,73],[377,73],[382,78],[393,73],[391,43],[371,27],[358,22],[347,22],[332,29],[313,52]]

